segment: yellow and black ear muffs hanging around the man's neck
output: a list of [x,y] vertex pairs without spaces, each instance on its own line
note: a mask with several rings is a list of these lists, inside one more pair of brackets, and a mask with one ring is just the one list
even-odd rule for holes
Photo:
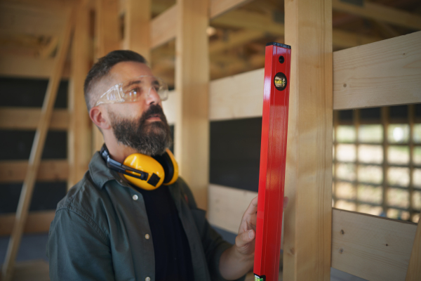
[[124,159],[123,164],[109,157],[107,146],[102,145],[101,156],[107,167],[123,174],[133,185],[145,190],[154,190],[161,184],[171,185],[178,178],[178,164],[171,150],[163,155],[148,156],[133,153]]

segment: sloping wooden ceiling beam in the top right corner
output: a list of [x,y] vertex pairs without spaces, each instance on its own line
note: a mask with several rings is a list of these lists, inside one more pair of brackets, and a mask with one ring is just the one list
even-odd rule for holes
[[363,6],[357,6],[346,1],[332,0],[332,8],[335,11],[360,15],[363,18],[389,22],[393,25],[407,27],[413,30],[421,30],[421,16],[408,11],[402,11],[382,4],[364,0]]

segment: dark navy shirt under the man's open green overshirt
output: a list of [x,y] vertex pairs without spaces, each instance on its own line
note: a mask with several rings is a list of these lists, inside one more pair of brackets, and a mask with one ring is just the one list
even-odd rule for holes
[[154,244],[156,281],[194,281],[189,242],[168,186],[135,189],[145,200]]

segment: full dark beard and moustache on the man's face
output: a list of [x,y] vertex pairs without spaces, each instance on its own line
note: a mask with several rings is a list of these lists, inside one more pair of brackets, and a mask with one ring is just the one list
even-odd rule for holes
[[[144,155],[162,155],[172,144],[170,126],[159,105],[151,105],[139,120],[123,119],[109,111],[114,136],[119,143]],[[158,114],[161,122],[147,122],[151,115]]]

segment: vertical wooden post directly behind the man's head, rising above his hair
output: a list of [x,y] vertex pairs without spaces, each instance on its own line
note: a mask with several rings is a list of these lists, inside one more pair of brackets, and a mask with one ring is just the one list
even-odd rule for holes
[[[101,58],[107,53],[118,50],[120,46],[120,19],[118,0],[97,0],[96,1],[96,21],[95,33],[97,46],[95,48],[95,58]],[[92,150],[100,150],[104,138],[100,130],[93,126]]]

